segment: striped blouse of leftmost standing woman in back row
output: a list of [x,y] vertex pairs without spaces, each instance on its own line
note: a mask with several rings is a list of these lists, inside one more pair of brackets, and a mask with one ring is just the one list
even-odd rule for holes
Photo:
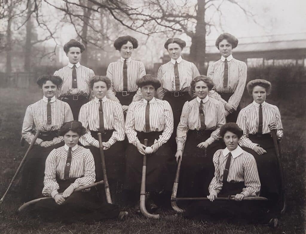
[[73,64],[69,62],[67,66],[64,66],[58,71],[54,72],[54,76],[59,76],[63,79],[63,84],[58,88],[57,97],[60,99],[62,96],[85,96],[89,100],[94,98],[91,89],[88,86],[88,81],[91,77],[95,76],[93,70],[88,67],[76,64],[76,76],[77,76],[77,89],[72,88],[72,67]]

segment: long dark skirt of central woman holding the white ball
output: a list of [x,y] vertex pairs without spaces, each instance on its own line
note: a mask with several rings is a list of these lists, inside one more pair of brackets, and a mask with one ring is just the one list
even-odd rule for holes
[[[144,139],[148,139],[148,146],[154,144],[154,140],[159,138],[162,132],[137,132],[137,137],[143,144]],[[136,146],[129,144],[126,149],[126,174],[124,188],[126,190],[140,191],[143,155],[141,155]],[[174,154],[168,143],[163,144],[159,149],[147,155],[147,174],[146,191],[171,191],[174,174],[169,172],[169,163],[175,160]]]

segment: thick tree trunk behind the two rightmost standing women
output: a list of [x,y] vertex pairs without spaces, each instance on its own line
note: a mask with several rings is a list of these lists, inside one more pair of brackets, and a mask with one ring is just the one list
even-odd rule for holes
[[196,32],[191,37],[190,60],[199,70],[203,69],[206,47],[205,0],[198,0]]

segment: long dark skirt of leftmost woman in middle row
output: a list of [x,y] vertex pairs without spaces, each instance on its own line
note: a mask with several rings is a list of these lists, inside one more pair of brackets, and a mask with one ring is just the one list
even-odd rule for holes
[[[43,141],[52,141],[54,137],[57,137],[55,132],[51,132],[48,135],[44,135],[43,133],[39,135],[39,138]],[[22,172],[21,194],[23,202],[28,202],[35,198],[41,197],[41,193],[43,191],[43,178],[45,175],[46,159],[53,149],[63,145],[64,142],[49,146],[47,148],[39,145],[33,146],[32,150],[28,154]]]

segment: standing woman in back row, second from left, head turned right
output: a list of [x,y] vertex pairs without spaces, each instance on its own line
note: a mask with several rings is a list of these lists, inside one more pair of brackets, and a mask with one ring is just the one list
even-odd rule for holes
[[119,102],[126,113],[132,101],[142,99],[136,80],[143,77],[146,70],[143,62],[131,59],[133,50],[138,47],[138,41],[134,37],[118,37],[114,47],[120,52],[121,58],[117,62],[111,62],[107,68],[106,76],[111,80],[107,96],[110,100]]

